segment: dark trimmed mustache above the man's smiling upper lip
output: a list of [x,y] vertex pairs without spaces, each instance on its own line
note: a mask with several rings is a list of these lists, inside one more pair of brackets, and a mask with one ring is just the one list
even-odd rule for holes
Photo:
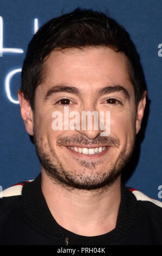
[[117,148],[120,147],[120,141],[117,138],[108,136],[97,136],[94,139],[87,139],[83,135],[78,136],[78,135],[73,135],[73,136],[63,136],[59,139],[57,139],[57,145],[59,146],[71,146],[71,145],[104,145],[104,146],[115,146]]

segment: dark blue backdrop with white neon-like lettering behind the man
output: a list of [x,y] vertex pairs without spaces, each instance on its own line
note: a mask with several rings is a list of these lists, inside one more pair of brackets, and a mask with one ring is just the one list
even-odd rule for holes
[[[34,179],[40,172],[39,160],[30,141],[17,103],[20,71],[29,40],[37,27],[49,19],[68,13],[78,5],[107,12],[130,33],[141,57],[149,104],[141,146],[126,170],[126,185],[162,200],[161,180],[161,0],[1,0],[0,1],[0,138],[3,189]],[[147,119],[148,115],[148,119]]]

